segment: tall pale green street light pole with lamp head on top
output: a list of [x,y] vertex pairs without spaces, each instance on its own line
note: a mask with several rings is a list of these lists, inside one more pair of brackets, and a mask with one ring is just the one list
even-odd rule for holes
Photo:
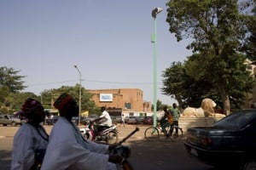
[[163,8],[154,8],[152,17],[154,19],[154,34],[151,37],[151,42],[154,43],[154,127],[156,127],[156,100],[157,100],[157,57],[156,57],[156,15],[160,14]]

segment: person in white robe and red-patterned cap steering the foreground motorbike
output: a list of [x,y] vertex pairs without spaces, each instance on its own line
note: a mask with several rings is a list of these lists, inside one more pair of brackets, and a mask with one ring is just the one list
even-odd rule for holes
[[115,144],[97,144],[85,140],[72,117],[79,116],[79,106],[67,93],[55,100],[54,106],[60,117],[49,135],[49,144],[41,170],[115,170],[122,158],[109,154]]

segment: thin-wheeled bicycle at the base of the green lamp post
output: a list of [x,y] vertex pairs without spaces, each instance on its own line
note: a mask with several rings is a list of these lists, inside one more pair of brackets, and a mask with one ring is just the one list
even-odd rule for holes
[[[177,126],[171,124],[166,127],[166,132],[169,134],[169,136],[166,137],[166,139],[171,139],[172,141],[178,141],[183,139],[183,129],[182,127],[177,127],[177,134],[175,133],[175,128]],[[170,134],[172,132],[172,134]],[[163,133],[162,127],[160,126],[160,123],[157,123],[156,127],[148,127],[144,132],[144,137],[148,141],[155,141],[160,139],[160,133]],[[174,133],[174,134],[173,134]]]

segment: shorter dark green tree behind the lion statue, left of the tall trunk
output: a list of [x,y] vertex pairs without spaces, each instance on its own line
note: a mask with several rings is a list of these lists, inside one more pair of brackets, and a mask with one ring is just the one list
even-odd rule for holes
[[212,84],[204,79],[196,81],[195,78],[189,77],[181,62],[173,62],[166,71],[163,71],[162,77],[164,77],[164,88],[161,88],[163,94],[177,99],[178,105],[183,108],[188,105],[200,107],[204,98],[211,98],[219,104],[216,86],[212,87]]

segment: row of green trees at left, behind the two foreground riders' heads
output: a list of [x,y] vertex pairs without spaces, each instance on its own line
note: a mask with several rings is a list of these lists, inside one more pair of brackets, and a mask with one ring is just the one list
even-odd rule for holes
[[[57,89],[45,89],[41,95],[37,96],[30,92],[20,92],[26,88],[22,80],[25,76],[19,76],[18,73],[19,71],[15,71],[13,68],[0,67],[0,112],[13,114],[15,111],[20,111],[27,98],[38,99],[45,109],[49,109],[63,92],[71,94],[79,103],[79,84],[74,87],[62,86]],[[81,88],[81,94],[81,111],[100,112],[95,102],[90,100],[91,94],[84,88]]]

